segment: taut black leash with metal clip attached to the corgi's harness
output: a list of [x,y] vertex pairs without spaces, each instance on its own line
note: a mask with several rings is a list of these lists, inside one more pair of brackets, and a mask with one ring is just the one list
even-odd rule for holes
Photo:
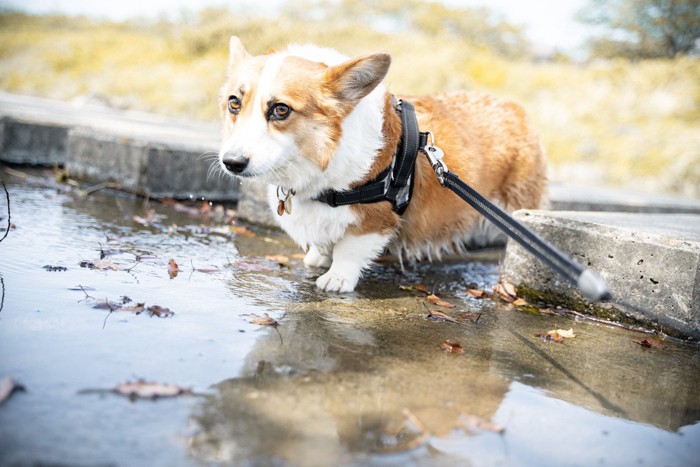
[[583,296],[588,300],[597,302],[610,299],[610,291],[603,278],[554,248],[554,246],[540,238],[532,230],[464,183],[457,175],[450,172],[442,161],[442,150],[433,144],[432,134],[428,133],[428,135],[430,136],[429,142],[421,148],[421,151],[427,156],[440,185],[452,190],[503,233],[518,242],[551,269],[578,286]]

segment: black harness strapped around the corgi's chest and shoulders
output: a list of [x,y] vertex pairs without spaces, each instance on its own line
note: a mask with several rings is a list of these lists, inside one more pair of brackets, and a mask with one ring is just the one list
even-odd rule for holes
[[418,151],[427,144],[427,133],[418,131],[418,120],[413,105],[392,96],[394,109],[401,117],[401,139],[394,158],[374,180],[353,190],[327,190],[314,198],[333,208],[348,204],[390,201],[392,209],[401,215],[408,207],[413,194],[413,171]]

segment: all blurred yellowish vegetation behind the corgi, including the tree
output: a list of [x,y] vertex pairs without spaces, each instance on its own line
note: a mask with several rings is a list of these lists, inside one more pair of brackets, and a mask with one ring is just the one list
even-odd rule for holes
[[590,0],[576,60],[488,9],[421,0],[302,0],[177,20],[0,15],[0,89],[215,120],[228,39],[252,53],[312,42],[392,54],[399,95],[486,91],[525,106],[551,178],[700,197],[700,1]]

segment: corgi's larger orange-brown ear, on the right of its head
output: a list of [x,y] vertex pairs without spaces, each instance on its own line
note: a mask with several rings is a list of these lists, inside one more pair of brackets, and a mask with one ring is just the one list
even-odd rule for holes
[[389,65],[389,54],[353,58],[329,67],[324,74],[324,87],[336,98],[357,102],[382,82],[389,71]]

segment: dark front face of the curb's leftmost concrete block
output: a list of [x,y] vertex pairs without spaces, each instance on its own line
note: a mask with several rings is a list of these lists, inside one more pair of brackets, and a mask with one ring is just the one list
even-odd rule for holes
[[11,164],[63,165],[68,128],[43,122],[3,118],[0,160]]

